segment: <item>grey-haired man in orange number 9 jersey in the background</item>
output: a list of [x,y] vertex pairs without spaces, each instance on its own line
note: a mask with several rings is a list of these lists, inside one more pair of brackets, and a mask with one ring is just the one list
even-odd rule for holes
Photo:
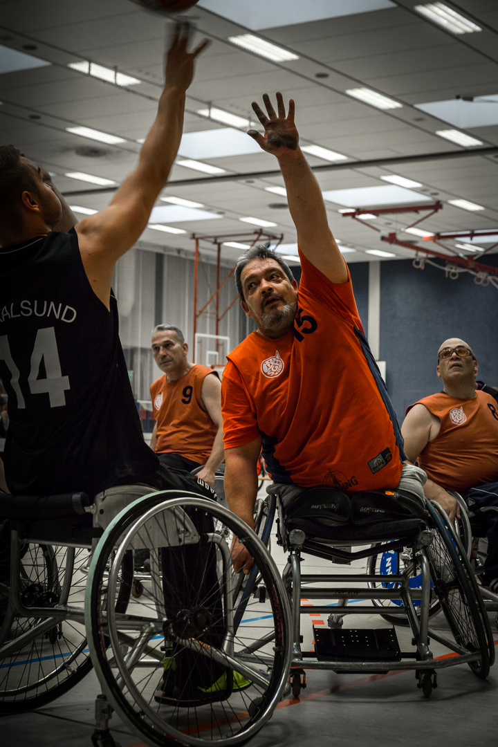
[[192,471],[213,487],[223,461],[221,383],[216,371],[187,361],[181,329],[158,324],[152,353],[164,375],[151,388],[155,426],[151,448],[166,467]]

